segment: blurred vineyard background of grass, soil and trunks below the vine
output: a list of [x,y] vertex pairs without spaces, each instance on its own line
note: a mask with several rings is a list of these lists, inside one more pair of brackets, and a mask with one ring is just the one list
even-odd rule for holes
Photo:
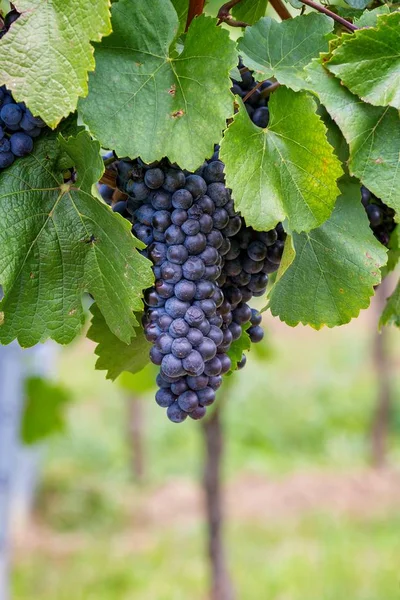
[[261,350],[205,424],[167,420],[152,368],[112,384],[92,342],[51,349],[0,473],[3,501],[18,480],[0,543],[11,597],[398,600],[400,336],[376,333],[388,293],[334,330],[265,314]]

